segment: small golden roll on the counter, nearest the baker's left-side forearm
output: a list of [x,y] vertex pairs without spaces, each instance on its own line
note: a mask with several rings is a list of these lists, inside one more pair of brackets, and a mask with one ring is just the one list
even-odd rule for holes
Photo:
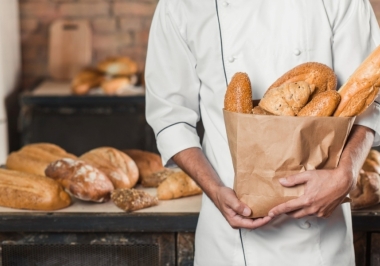
[[159,200],[170,200],[201,193],[201,188],[183,171],[173,172],[157,188]]

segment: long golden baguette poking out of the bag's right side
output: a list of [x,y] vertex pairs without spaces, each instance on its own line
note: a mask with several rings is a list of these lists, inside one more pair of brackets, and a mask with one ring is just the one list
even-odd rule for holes
[[380,87],[380,46],[355,70],[339,89],[342,97],[334,116],[357,116],[375,100]]

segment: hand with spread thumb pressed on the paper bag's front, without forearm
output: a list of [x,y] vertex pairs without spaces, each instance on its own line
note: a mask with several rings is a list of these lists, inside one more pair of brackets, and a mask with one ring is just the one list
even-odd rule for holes
[[350,172],[335,170],[306,171],[280,179],[284,187],[305,184],[305,193],[297,199],[280,204],[269,211],[269,216],[288,214],[294,218],[309,215],[329,217],[353,187]]

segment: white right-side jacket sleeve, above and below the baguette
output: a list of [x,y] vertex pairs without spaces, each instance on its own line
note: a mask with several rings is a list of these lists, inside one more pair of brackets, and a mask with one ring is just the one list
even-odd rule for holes
[[[379,45],[379,25],[369,0],[340,0],[332,20],[333,67],[341,86]],[[339,4],[338,4],[339,3]],[[380,97],[358,116],[355,124],[373,129],[373,146],[380,145]]]

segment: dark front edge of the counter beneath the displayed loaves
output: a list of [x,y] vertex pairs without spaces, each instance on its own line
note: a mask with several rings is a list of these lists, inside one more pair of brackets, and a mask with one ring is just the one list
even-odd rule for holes
[[[0,232],[194,232],[197,212],[3,212]],[[354,231],[380,231],[380,210],[352,212]]]

